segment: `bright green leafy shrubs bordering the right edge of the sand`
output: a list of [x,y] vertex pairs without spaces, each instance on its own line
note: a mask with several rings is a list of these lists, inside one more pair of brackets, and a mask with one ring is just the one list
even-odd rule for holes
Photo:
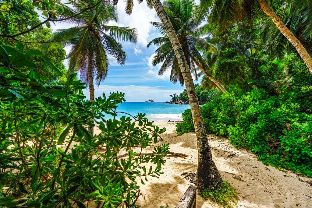
[[[312,177],[312,87],[272,96],[265,89],[235,87],[201,107],[207,133],[227,135],[236,147],[249,148],[265,164]],[[194,131],[190,110],[177,133]]]

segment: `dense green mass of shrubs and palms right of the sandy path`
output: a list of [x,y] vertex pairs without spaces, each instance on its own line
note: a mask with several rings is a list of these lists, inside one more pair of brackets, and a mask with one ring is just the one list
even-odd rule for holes
[[[228,136],[232,144],[249,148],[265,164],[311,177],[312,79],[308,68],[261,10],[248,13],[244,6],[247,1],[243,1],[244,7],[235,8],[243,8],[245,12],[240,14],[235,10],[233,13],[232,4],[226,7],[226,1],[219,2],[224,3],[223,7],[216,1],[209,13],[211,27],[207,39],[219,51],[203,56],[209,73],[230,90],[226,94],[215,94],[201,107],[206,131]],[[256,7],[255,4],[253,8]],[[306,9],[306,4],[298,5],[298,11],[290,9],[295,7],[291,1],[274,2],[272,7],[277,8],[275,12],[285,20],[286,26],[299,34],[299,30],[294,29],[300,27],[303,19],[292,14]],[[222,12],[231,11],[243,18],[222,16]],[[248,15],[253,18],[248,19]],[[303,42],[310,48],[310,41]],[[207,89],[214,87],[206,77],[201,84]],[[201,98],[200,94],[198,97]],[[183,123],[177,125],[178,134],[193,132],[191,111],[186,110],[182,115]]]

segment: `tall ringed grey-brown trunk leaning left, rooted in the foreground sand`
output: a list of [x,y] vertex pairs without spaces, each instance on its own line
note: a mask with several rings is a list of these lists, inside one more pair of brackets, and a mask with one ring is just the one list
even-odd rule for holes
[[181,44],[179,43],[178,36],[172,27],[172,24],[168,18],[167,13],[163,9],[163,5],[159,0],[152,0],[153,6],[157,12],[157,15],[167,32],[169,40],[172,44],[173,50],[177,57],[180,69],[183,74],[185,82],[185,88],[188,93],[188,99],[190,101],[191,112],[195,127],[195,133],[197,137],[197,150],[198,150],[198,167],[197,167],[197,188],[199,191],[203,191],[207,187],[211,187],[216,183],[222,181],[222,177],[217,170],[217,167],[212,160],[211,149],[208,143],[206,129],[204,127],[202,115],[199,108],[199,102],[197,93],[195,90],[193,78],[187,64],[187,60],[184,56]]

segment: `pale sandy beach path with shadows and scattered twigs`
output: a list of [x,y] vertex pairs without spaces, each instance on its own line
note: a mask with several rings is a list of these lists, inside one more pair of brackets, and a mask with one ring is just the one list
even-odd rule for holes
[[[155,125],[167,129],[163,134],[164,141],[156,145],[169,143],[170,151],[188,157],[166,157],[166,164],[162,167],[164,173],[159,179],[150,177],[145,184],[138,181],[142,196],[137,205],[160,208],[167,203],[174,208],[194,179],[192,173],[197,169],[196,137],[194,133],[178,136],[175,133],[176,123],[156,121]],[[97,128],[95,133],[99,133]],[[208,139],[219,172],[238,192],[237,207],[311,207],[312,198],[308,197],[312,196],[310,178],[265,166],[248,150],[233,147],[227,138],[210,134]],[[188,174],[181,176],[183,172]],[[206,207],[219,206],[197,196],[197,208]]]

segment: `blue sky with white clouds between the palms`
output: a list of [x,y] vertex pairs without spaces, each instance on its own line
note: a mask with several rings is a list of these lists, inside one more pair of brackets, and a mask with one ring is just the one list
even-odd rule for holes
[[[118,65],[113,57],[109,57],[108,76],[98,88],[95,88],[95,97],[101,96],[103,92],[109,94],[109,92],[121,91],[125,93],[127,101],[146,101],[148,99],[166,101],[170,100],[170,94],[180,94],[184,87],[178,83],[174,85],[169,82],[170,70],[164,75],[158,76],[160,65],[152,66],[151,61],[156,47],[146,47],[149,41],[160,36],[158,31],[149,24],[151,21],[159,22],[156,12],[150,10],[145,2],[139,5],[136,1],[130,16],[124,13],[124,1],[120,0],[117,8],[119,22],[117,24],[112,22],[109,25],[135,27],[138,31],[138,43],[122,43],[128,55],[126,64],[123,66]],[[74,27],[74,25],[61,22],[56,22],[56,25],[51,24],[51,29],[54,31],[69,27]],[[65,50],[68,52],[69,48],[65,48]],[[65,64],[67,64],[66,61]],[[85,95],[89,97],[88,90],[85,90]]]

